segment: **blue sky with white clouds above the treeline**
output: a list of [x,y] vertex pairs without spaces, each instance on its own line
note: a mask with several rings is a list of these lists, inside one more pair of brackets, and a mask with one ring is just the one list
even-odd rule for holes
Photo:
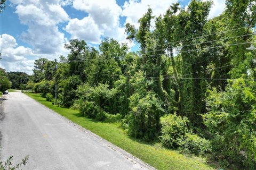
[[[139,27],[138,20],[147,12],[164,14],[175,2],[186,7],[190,0],[7,0],[0,14],[0,60],[6,71],[32,74],[40,57],[54,60],[67,56],[64,48],[70,39],[83,39],[98,48],[102,38],[126,40],[125,23]],[[206,0],[203,0],[206,1]],[[213,0],[209,18],[225,9],[224,0]]]

